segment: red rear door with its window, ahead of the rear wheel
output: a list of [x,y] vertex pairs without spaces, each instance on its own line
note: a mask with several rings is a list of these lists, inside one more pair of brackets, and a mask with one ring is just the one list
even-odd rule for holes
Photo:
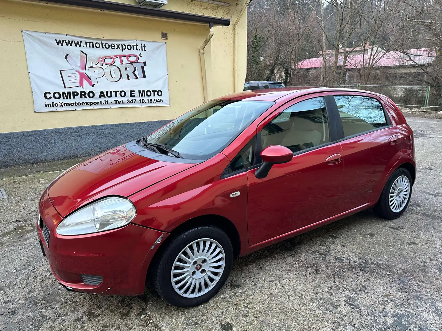
[[334,95],[343,151],[338,213],[377,199],[373,189],[399,160],[402,136],[373,96]]

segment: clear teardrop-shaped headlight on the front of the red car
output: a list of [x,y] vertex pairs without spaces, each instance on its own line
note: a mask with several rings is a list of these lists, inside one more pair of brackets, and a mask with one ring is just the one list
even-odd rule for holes
[[116,229],[130,223],[137,211],[128,199],[112,196],[98,200],[66,217],[57,226],[65,236]]

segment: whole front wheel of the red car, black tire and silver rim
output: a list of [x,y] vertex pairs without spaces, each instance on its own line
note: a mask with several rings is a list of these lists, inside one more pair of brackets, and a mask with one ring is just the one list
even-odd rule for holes
[[214,226],[199,226],[166,244],[153,266],[153,286],[171,305],[200,305],[224,285],[232,260],[227,234]]

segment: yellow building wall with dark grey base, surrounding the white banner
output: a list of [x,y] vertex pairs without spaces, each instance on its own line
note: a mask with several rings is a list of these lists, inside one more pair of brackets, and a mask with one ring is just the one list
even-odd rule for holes
[[[135,4],[134,0],[122,2]],[[191,0],[171,0],[163,7],[231,19],[231,26],[215,27],[215,35],[206,47],[206,70],[212,98],[233,92],[233,22],[244,3],[245,0],[232,2],[229,7],[223,7]],[[206,24],[30,1],[0,0],[0,8],[0,58],[4,63],[0,67],[0,143],[3,152],[0,155],[0,168],[93,155],[128,139],[136,139],[142,133],[149,134],[165,121],[204,102],[199,47],[209,33]],[[161,40],[161,32],[168,32],[166,48],[170,106],[34,113],[21,30],[146,41],[164,41]],[[239,86],[242,86],[246,61],[245,14],[238,32],[238,76]],[[84,143],[80,139],[73,151],[69,146],[60,146],[58,141],[69,138],[73,132],[83,136]],[[97,132],[101,132],[100,137],[106,143],[97,141],[90,148],[89,144]],[[107,136],[103,136],[103,132],[107,132]],[[26,137],[25,142],[23,137]],[[33,147],[27,148],[24,153],[23,143],[30,141],[33,141]],[[41,153],[41,150],[45,150],[45,153]]]

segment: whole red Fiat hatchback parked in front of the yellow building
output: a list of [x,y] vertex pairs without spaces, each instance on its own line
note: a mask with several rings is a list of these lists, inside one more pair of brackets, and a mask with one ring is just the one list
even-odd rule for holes
[[208,301],[232,260],[373,207],[407,208],[413,132],[361,90],[244,91],[68,169],[43,192],[38,238],[65,288]]

